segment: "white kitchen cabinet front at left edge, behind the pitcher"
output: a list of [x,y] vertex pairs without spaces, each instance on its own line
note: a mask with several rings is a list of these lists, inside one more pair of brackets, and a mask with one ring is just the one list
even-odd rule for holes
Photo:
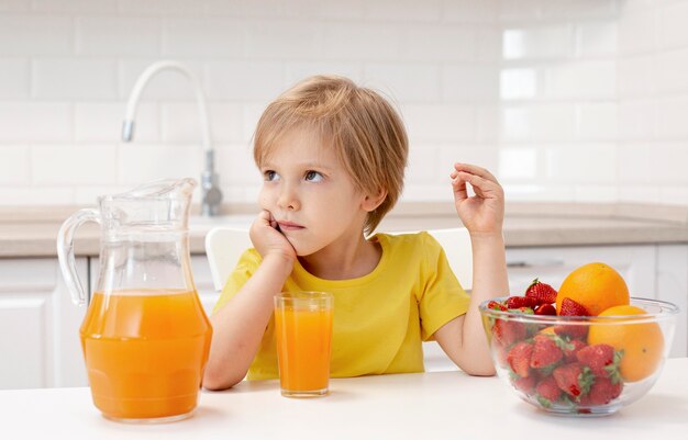
[[[88,259],[78,258],[81,280]],[[56,258],[0,260],[0,388],[82,386],[79,326]]]

